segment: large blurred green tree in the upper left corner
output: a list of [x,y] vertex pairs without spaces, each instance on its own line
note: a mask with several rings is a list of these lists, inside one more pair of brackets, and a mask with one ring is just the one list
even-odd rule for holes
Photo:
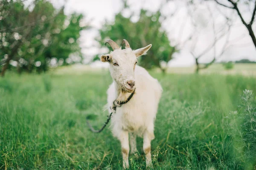
[[[0,4],[2,76],[10,64],[18,72],[41,72],[49,68],[52,59],[55,59],[54,66],[81,60],[77,40],[79,32],[86,28],[80,26],[82,15],[66,16],[64,8],[57,11],[46,0],[35,0],[32,10],[25,8],[22,0],[0,3],[3,3]],[[70,54],[72,58],[66,61]]]

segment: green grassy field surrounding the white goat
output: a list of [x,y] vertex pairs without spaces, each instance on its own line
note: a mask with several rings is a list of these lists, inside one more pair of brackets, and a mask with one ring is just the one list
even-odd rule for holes
[[[239,107],[243,90],[256,93],[255,77],[152,75],[164,90],[151,142],[154,169],[256,168],[256,139],[244,135],[253,131],[246,129]],[[108,113],[102,108],[111,81],[108,72],[100,71],[0,78],[0,169],[122,169],[119,141],[108,128],[94,134],[85,123],[89,114],[97,115],[91,121],[95,127],[105,122]],[[131,170],[145,169],[142,139],[137,143]]]

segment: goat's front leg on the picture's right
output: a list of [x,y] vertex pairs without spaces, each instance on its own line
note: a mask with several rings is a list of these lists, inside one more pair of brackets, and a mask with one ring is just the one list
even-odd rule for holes
[[143,150],[146,156],[146,167],[152,167],[151,160],[151,140],[154,138],[154,132],[146,130],[143,134]]

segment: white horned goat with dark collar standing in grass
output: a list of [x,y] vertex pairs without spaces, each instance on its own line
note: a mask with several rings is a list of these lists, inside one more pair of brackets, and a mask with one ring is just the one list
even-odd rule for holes
[[[131,100],[116,108],[116,113],[111,118],[113,135],[119,139],[122,147],[123,167],[128,168],[128,154],[137,152],[136,136],[143,137],[143,150],[146,157],[146,166],[151,166],[151,140],[154,139],[154,120],[157,114],[158,103],[162,94],[162,87],[158,81],[140,66],[136,66],[137,57],[145,55],[151,48],[151,44],[132,50],[129,43],[125,43],[125,49],[113,40],[107,40],[113,52],[101,56],[102,62],[110,63],[110,72],[113,83],[108,94],[109,112],[113,110],[113,101],[125,101],[131,92],[135,93]],[[130,142],[130,147],[129,147]]]

